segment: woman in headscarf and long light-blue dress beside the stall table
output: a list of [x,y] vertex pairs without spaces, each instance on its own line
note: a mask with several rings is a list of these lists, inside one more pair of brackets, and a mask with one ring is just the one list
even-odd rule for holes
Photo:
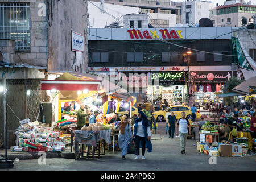
[[119,135],[118,135],[118,146],[121,150],[121,156],[125,159],[125,155],[127,154],[128,143],[132,137],[131,133],[131,123],[128,119],[129,115],[124,114],[120,123],[115,126],[115,129],[119,127]]

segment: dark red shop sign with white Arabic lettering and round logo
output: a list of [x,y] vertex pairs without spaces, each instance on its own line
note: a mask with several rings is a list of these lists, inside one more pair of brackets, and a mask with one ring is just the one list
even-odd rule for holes
[[232,75],[232,71],[193,71],[190,73],[191,82],[226,82]]

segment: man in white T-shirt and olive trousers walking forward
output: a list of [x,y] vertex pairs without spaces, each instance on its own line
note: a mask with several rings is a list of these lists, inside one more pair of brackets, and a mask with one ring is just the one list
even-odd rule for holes
[[[190,123],[186,117],[186,113],[181,113],[181,118],[177,121],[177,133],[179,132],[180,137],[180,147],[181,147],[181,154],[186,154],[186,142],[188,135],[191,135],[191,127]],[[189,133],[188,133],[189,129]]]

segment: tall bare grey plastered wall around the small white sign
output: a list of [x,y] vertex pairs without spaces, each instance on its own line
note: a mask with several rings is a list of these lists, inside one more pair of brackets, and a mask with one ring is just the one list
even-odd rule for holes
[[88,48],[85,36],[84,53],[71,50],[71,31],[86,35],[87,5],[83,0],[52,1],[52,25],[48,24],[49,71],[85,72]]

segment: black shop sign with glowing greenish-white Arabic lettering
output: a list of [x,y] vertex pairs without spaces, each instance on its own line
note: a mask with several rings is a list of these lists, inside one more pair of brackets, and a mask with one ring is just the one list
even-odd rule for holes
[[159,85],[185,85],[184,72],[152,73],[152,80],[158,80]]

